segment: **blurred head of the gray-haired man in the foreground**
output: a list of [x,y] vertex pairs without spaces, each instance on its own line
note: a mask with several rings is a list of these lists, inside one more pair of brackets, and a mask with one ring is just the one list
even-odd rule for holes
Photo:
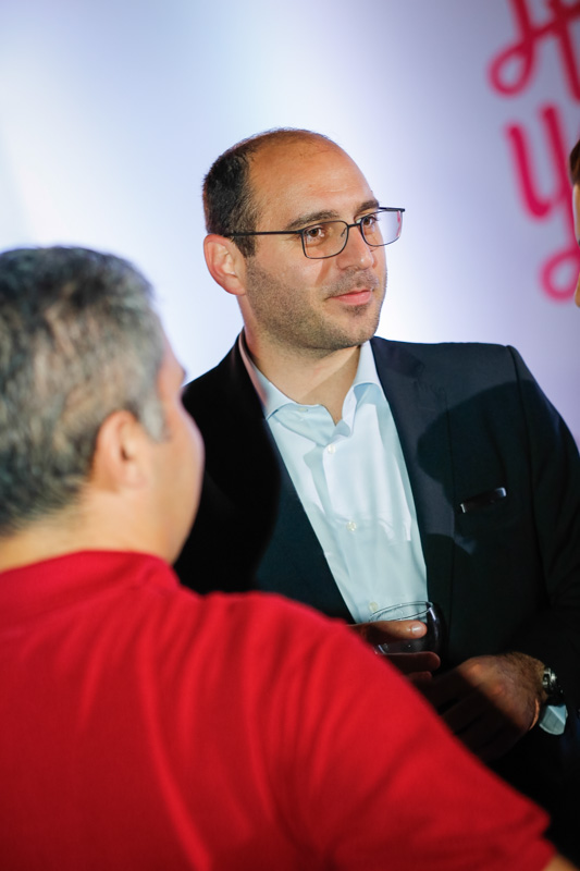
[[[127,530],[139,500],[144,510],[153,506],[155,488],[163,503],[156,464],[175,471],[169,454],[182,427],[181,420],[175,426],[182,378],[151,308],[151,289],[125,260],[64,247],[0,255],[0,537],[54,518],[82,524],[87,496],[92,504],[97,491],[111,523],[131,496]],[[183,414],[182,428],[192,428],[177,439],[185,466],[180,480],[188,479],[190,489],[184,499],[192,504],[181,506],[185,536],[200,453]],[[165,559],[181,545],[170,537],[152,545]]]

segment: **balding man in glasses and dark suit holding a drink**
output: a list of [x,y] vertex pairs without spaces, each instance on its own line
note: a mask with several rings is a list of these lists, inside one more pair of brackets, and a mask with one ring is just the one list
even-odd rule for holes
[[580,765],[580,461],[564,421],[513,348],[372,338],[404,210],[325,137],[234,146],[205,208],[206,261],[244,332],[185,392],[207,473],[182,581],[357,624],[435,601],[448,645],[425,695],[557,826]]

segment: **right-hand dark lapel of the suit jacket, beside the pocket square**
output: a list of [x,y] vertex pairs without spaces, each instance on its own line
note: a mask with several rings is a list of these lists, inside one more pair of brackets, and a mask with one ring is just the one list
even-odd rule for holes
[[[427,563],[429,597],[436,602],[447,621],[451,617],[454,551],[454,510],[452,450],[447,426],[432,427],[446,420],[445,392],[428,382],[423,364],[408,346],[372,340],[377,371],[391,406],[407,465],[417,520]],[[432,427],[425,444],[422,439]],[[422,454],[437,457],[437,480],[422,468]]]

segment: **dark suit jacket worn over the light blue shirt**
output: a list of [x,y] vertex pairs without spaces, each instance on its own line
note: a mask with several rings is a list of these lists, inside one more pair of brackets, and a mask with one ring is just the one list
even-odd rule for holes
[[[558,675],[573,736],[580,459],[569,431],[514,348],[382,339],[372,348],[409,471],[429,598],[448,627],[447,664],[510,649],[536,657]],[[182,582],[273,590],[351,621],[237,344],[184,402],[203,434],[207,473],[176,564]],[[573,743],[566,771],[578,764]],[[548,741],[556,756],[565,744]]]

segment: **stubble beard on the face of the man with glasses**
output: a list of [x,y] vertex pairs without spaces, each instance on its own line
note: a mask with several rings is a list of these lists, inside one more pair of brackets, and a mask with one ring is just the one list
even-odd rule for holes
[[[344,307],[347,320],[324,317],[305,305],[304,297],[289,284],[262,269],[252,258],[246,261],[248,303],[262,335],[280,347],[321,356],[355,347],[371,339],[379,327],[386,290],[372,270],[346,273],[332,286],[320,290],[321,298],[340,296],[356,287],[372,290],[379,304]],[[331,304],[332,305],[332,304]]]

